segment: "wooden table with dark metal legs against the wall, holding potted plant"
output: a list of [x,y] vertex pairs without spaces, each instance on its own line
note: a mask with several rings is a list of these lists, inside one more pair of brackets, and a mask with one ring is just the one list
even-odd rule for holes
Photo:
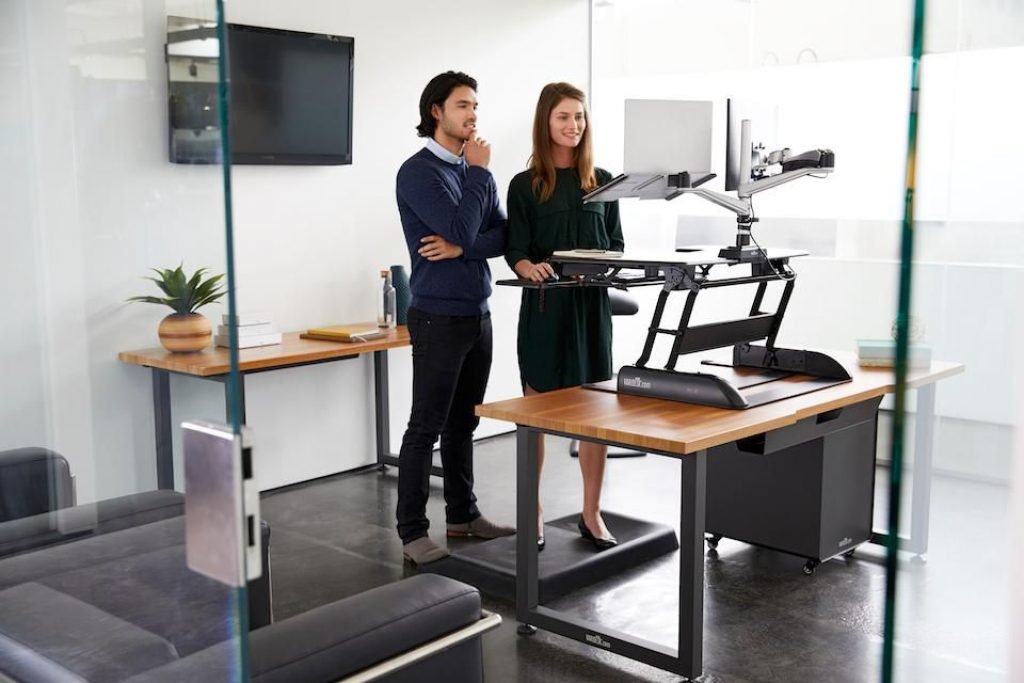
[[[376,323],[367,323],[374,328]],[[239,350],[239,419],[246,421],[247,375],[271,370],[299,368],[321,362],[348,360],[365,353],[374,354],[374,407],[377,422],[377,464],[397,465],[398,459],[391,453],[390,426],[388,422],[388,367],[387,350],[411,344],[409,330],[404,326],[387,331],[384,337],[365,342],[334,342],[302,339],[301,333],[290,332],[283,336],[280,344],[259,346]],[[146,348],[137,351],[122,351],[118,359],[153,371],[153,413],[157,440],[157,485],[159,488],[174,487],[174,457],[171,425],[170,376],[181,375],[198,379],[212,380],[224,385],[224,412],[230,420],[229,387],[230,357],[226,348],[214,347],[196,353],[171,353],[163,348]]]

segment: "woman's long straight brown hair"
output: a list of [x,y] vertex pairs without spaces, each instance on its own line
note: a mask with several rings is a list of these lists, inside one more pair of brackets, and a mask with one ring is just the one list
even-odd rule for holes
[[583,104],[583,117],[587,124],[580,137],[580,144],[572,151],[572,165],[580,175],[580,185],[585,193],[597,188],[597,177],[594,175],[594,147],[590,136],[590,112],[587,111],[586,96],[583,90],[569,83],[549,83],[541,90],[541,96],[537,100],[537,112],[534,115],[534,154],[529,158],[529,171],[532,176],[530,186],[538,202],[542,204],[551,199],[551,195],[555,191],[551,112],[566,98]]

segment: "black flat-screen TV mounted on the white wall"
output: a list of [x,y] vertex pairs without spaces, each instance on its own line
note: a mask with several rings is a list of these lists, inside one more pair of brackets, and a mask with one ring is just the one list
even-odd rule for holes
[[[209,26],[171,27],[171,161],[217,163],[216,41],[195,40]],[[231,162],[351,164],[353,47],[346,36],[228,24]]]

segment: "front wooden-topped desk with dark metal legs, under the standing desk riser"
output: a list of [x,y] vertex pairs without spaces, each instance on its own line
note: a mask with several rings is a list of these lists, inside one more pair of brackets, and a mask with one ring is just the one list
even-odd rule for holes
[[[658,667],[687,678],[702,671],[703,641],[703,535],[709,450],[794,428],[801,421],[820,421],[847,409],[877,401],[895,389],[891,370],[858,368],[852,356],[843,357],[852,381],[812,393],[752,408],[731,411],[680,403],[660,398],[562,389],[535,396],[486,403],[480,417],[516,425],[516,618],[526,625],[557,633],[606,651]],[[908,388],[919,390],[919,413],[934,410],[934,384],[962,372],[963,366],[932,362],[927,370],[909,373]],[[800,381],[795,377],[787,381]],[[925,416],[929,417],[929,416]],[[919,420],[913,481],[912,529],[927,537],[927,478],[930,476],[931,420]],[[679,637],[668,647],[629,634],[602,628],[543,606],[539,601],[537,552],[538,444],[543,434],[599,441],[678,458],[680,461],[680,562]],[[919,481],[920,479],[920,481]],[[920,488],[919,488],[920,487]],[[922,514],[919,514],[922,512]],[[886,536],[874,533],[884,543]],[[901,539],[901,547],[915,550],[921,539]],[[927,541],[925,542],[927,543]]]

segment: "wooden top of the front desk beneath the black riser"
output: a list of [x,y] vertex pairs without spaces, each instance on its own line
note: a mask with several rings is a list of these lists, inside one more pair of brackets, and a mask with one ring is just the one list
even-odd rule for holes
[[[892,393],[891,369],[861,368],[853,354],[830,354],[852,382],[773,403],[731,411],[662,398],[574,387],[478,405],[476,414],[517,425],[594,437],[646,451],[686,455],[792,425],[798,420]],[[922,386],[963,372],[954,362],[932,362],[910,372],[908,384]],[[799,381],[791,378],[783,381]]]

